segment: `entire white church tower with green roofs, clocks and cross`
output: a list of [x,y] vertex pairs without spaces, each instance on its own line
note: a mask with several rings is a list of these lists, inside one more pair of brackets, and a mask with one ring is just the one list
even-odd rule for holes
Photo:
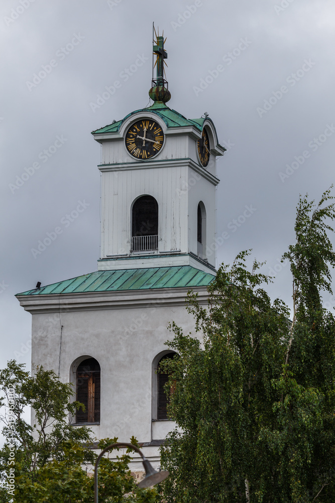
[[[97,271],[17,295],[32,313],[32,362],[53,369],[85,404],[73,427],[129,441],[134,435],[159,466],[168,376],[164,344],[175,321],[185,332],[192,289],[206,303],[215,274],[218,143],[207,114],[186,119],[166,103],[163,37],[156,37],[153,105],[92,132],[101,144],[101,257]],[[133,471],[142,463],[134,456]]]

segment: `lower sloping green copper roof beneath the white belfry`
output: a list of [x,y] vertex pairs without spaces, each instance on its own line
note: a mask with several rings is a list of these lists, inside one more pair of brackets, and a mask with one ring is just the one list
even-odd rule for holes
[[69,280],[53,283],[19,295],[50,295],[85,292],[116,292],[120,290],[152,290],[156,288],[193,288],[208,286],[214,276],[191,266],[152,267],[96,271]]

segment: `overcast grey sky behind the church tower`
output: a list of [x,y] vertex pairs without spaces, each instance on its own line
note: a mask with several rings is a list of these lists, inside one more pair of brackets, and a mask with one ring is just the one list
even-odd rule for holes
[[[334,180],[333,0],[2,0],[0,18],[1,367],[30,364],[31,315],[14,295],[97,268],[100,145],[90,132],[147,106],[153,21],[167,37],[168,106],[208,112],[227,148],[218,262],[253,248],[276,275],[271,296],[290,302],[279,259],[299,193],[317,199]],[[65,226],[78,201],[85,210]]]

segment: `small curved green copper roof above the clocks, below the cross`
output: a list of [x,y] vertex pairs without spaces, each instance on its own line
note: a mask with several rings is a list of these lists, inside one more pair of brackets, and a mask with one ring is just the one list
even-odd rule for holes
[[147,111],[153,112],[158,117],[160,117],[165,122],[167,127],[195,126],[197,129],[201,131],[203,122],[205,120],[204,118],[186,119],[183,115],[167,107],[164,103],[154,103],[151,107],[142,108],[140,110],[135,110],[135,112],[131,112],[130,114],[126,115],[126,117],[121,121],[114,122],[113,124],[108,124],[107,126],[104,126],[101,129],[96,129],[95,131],[92,131],[92,134],[116,133],[117,131],[120,130],[121,124],[126,119],[128,119],[128,117],[130,117],[133,114],[136,114],[137,112],[145,113]]

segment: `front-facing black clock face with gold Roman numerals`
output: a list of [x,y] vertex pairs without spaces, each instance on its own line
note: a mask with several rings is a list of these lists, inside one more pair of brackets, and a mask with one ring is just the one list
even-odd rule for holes
[[149,159],[163,146],[164,133],[161,126],[151,119],[135,122],[127,131],[126,148],[137,159]]

